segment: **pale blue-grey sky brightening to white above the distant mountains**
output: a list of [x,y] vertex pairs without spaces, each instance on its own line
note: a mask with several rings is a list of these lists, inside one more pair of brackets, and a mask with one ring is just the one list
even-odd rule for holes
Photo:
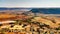
[[0,7],[60,7],[60,0],[0,0]]

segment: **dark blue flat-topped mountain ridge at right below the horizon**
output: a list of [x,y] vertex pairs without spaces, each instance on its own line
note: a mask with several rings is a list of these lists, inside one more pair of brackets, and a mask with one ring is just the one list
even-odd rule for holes
[[60,8],[34,8],[31,11],[34,13],[60,14]]

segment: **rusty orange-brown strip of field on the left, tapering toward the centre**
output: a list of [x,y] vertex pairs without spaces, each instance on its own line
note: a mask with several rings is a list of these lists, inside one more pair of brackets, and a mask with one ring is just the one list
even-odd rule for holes
[[27,19],[29,18],[28,16],[25,15],[15,15],[15,14],[0,14],[0,21],[4,20],[19,20],[19,19]]

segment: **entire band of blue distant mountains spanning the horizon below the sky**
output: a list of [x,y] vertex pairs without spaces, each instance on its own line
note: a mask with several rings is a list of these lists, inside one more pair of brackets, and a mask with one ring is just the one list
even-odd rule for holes
[[0,8],[1,10],[29,10],[33,13],[60,14],[60,8]]

